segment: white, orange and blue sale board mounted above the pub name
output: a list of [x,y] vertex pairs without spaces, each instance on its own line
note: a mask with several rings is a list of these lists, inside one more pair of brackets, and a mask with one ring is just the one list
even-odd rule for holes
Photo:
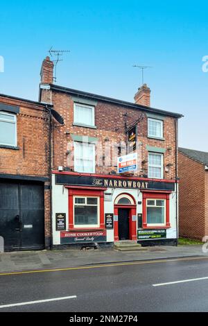
[[137,171],[137,153],[118,157],[118,173]]

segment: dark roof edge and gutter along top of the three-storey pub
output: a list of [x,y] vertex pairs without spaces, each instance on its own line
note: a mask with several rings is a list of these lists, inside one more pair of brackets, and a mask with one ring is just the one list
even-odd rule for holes
[[67,87],[63,87],[63,86],[59,86],[59,85],[54,85],[54,84],[50,84],[50,87],[53,91],[57,91],[57,92],[64,92],[64,93],[68,93],[68,94],[72,94],[75,96],[82,96],[85,98],[90,98],[90,99],[94,99],[94,100],[98,100],[98,101],[104,101],[104,102],[108,102],[108,103],[114,103],[117,105],[122,105],[128,108],[134,108],[134,109],[139,109],[142,111],[146,111],[146,112],[150,112],[150,113],[156,113],[156,114],[163,114],[166,115],[168,117],[174,117],[174,118],[182,118],[183,115],[180,113],[174,113],[174,112],[169,112],[169,111],[164,111],[164,110],[159,110],[159,109],[155,109],[155,108],[150,108],[148,106],[145,105],[139,105],[139,104],[135,104],[132,102],[126,102],[126,101],[122,101],[122,100],[118,100],[116,98],[111,98],[111,97],[107,97],[107,96],[102,96],[102,95],[97,95],[97,94],[92,94],[92,93],[88,93],[88,92],[83,92],[83,91],[79,91],[77,89],[71,89],[71,88],[67,88]]

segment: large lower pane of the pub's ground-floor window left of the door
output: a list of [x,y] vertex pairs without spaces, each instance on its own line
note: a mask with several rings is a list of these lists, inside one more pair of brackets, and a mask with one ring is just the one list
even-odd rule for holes
[[75,225],[96,225],[98,224],[98,207],[85,206],[74,208],[74,223]]

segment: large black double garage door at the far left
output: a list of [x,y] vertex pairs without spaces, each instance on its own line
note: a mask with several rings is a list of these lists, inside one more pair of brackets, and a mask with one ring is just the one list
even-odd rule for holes
[[0,182],[0,236],[6,251],[44,248],[42,184]]

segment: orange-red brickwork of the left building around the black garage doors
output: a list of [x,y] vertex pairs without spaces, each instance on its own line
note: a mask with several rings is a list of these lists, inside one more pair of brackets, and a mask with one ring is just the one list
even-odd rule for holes
[[[18,105],[18,150],[0,148],[0,173],[49,177],[49,114],[42,105],[0,96],[0,102]],[[49,185],[46,182],[45,185]],[[45,197],[45,234],[50,237],[50,191]]]

